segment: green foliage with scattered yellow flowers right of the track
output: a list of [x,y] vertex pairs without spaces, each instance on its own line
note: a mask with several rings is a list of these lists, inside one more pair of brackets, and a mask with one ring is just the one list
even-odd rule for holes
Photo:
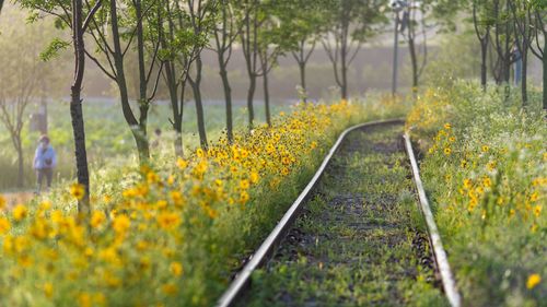
[[546,284],[534,282],[547,276],[547,130],[539,95],[531,105],[525,113],[499,88],[481,94],[457,81],[429,90],[408,116],[466,305],[540,306],[547,298]]

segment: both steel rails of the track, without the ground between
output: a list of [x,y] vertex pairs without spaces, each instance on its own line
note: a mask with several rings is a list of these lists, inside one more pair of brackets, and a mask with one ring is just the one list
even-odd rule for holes
[[[296,200],[292,203],[292,205],[289,208],[289,210],[284,213],[283,217],[279,221],[279,223],[276,225],[274,231],[268,235],[268,237],[264,240],[264,243],[260,245],[260,247],[251,257],[249,261],[245,264],[245,267],[242,269],[242,271],[240,271],[237,273],[236,278],[232,281],[229,288],[222,294],[222,296],[218,300],[218,304],[217,304],[218,307],[232,306],[236,302],[236,299],[240,297],[240,295],[242,295],[243,292],[248,287],[248,285],[251,283],[251,275],[253,274],[253,272],[257,268],[259,268],[264,262],[267,261],[268,257],[272,253],[276,246],[279,245],[279,243],[283,239],[284,234],[291,227],[294,220],[299,216],[299,212],[302,209],[302,204],[310,198],[313,188],[317,185],[319,178],[322,177],[323,173],[327,168],[328,163],[330,162],[333,156],[336,154],[336,152],[340,147],[346,135],[348,133],[350,133],[354,130],[361,129],[361,128],[372,127],[372,126],[393,125],[393,123],[404,123],[404,120],[403,119],[391,119],[391,120],[371,121],[371,122],[357,125],[357,126],[353,126],[353,127],[350,127],[350,128],[344,130],[344,132],[338,137],[338,140],[336,141],[336,143],[329,150],[328,154],[323,160],[323,163],[321,164],[321,166],[318,167],[317,172],[315,173],[313,178],[310,180],[307,186],[300,193],[300,196],[296,198]],[[444,249],[442,247],[441,238],[440,238],[439,232],[437,231],[437,225],[434,224],[433,215],[431,213],[429,204],[427,203],[426,193],[423,192],[423,187],[421,185],[421,180],[419,179],[418,167],[416,164],[416,160],[414,156],[411,144],[410,144],[409,139],[408,139],[408,134],[405,134],[405,140],[406,140],[407,153],[409,155],[409,158],[410,158],[410,162],[412,165],[412,173],[415,175],[415,182],[417,185],[418,194],[419,194],[419,199],[420,199],[420,203],[421,203],[420,209],[423,213],[423,216],[427,220],[428,233],[430,235],[430,241],[433,245],[434,256],[435,256],[434,258],[435,258],[435,261],[438,262],[438,268],[441,271],[441,278],[443,280],[442,282],[443,282],[444,291],[446,293],[446,296],[447,296],[451,305],[453,307],[459,307],[461,306],[459,294],[455,287],[455,282],[454,282],[453,275],[450,271],[450,267],[449,267],[449,263],[446,260],[446,253],[444,252]],[[426,203],[426,205],[423,203]]]

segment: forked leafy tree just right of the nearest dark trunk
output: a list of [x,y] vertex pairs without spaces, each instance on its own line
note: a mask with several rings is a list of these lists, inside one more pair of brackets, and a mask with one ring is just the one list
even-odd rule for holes
[[[106,76],[116,83],[121,111],[131,129],[141,163],[146,163],[150,156],[147,134],[148,113],[161,73],[161,70],[155,75],[152,73],[160,48],[158,39],[149,39],[149,43],[152,44],[152,52],[146,52],[144,49],[144,28],[153,26],[153,24],[147,23],[147,20],[149,20],[149,14],[155,12],[153,8],[158,5],[158,0],[144,2],[142,0],[127,2],[109,0],[107,5],[91,19],[88,28],[96,49],[94,51],[85,50],[85,55],[100,67]],[[90,8],[89,2],[86,2],[86,7]],[[108,27],[109,33],[106,32]],[[133,46],[136,36],[139,63],[138,114],[131,108],[126,78],[126,57],[128,50]],[[148,88],[151,84],[154,90],[148,95]]]

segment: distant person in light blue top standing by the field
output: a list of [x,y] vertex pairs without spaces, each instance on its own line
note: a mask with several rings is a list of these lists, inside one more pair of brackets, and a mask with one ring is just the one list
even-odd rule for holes
[[36,170],[37,185],[36,193],[42,191],[42,181],[46,178],[47,189],[51,187],[51,179],[54,177],[54,168],[57,166],[57,154],[49,142],[47,135],[39,138],[38,147],[34,154],[33,168]]

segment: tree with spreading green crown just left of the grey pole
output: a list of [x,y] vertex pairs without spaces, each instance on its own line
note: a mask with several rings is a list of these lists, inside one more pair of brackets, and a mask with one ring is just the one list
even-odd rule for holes
[[385,3],[372,0],[333,0],[325,21],[330,28],[322,40],[333,63],[335,81],[341,98],[348,98],[348,68],[354,60],[361,43],[377,32],[374,26],[386,22]]

